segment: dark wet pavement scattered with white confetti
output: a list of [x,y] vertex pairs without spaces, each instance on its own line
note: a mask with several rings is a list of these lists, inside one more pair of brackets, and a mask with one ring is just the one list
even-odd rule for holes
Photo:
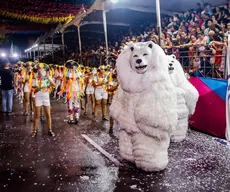
[[[165,171],[145,173],[122,161],[118,153],[118,127],[91,121],[82,115],[68,125],[66,105],[52,101],[54,138],[41,122],[31,138],[30,117],[22,105],[14,116],[0,116],[0,192],[203,192],[230,191],[230,149],[211,136],[189,131],[182,143],[172,143]],[[86,134],[123,166],[114,165],[81,134]]]

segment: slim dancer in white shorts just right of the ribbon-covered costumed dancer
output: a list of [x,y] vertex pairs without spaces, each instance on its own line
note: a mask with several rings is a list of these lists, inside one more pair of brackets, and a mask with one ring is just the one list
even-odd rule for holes
[[94,107],[95,107],[95,88],[93,86],[93,82],[96,79],[93,72],[87,72],[85,74],[85,84],[86,84],[86,97],[85,97],[85,115],[88,113],[88,105],[89,101],[91,100],[91,107],[92,107],[92,115],[94,115]]

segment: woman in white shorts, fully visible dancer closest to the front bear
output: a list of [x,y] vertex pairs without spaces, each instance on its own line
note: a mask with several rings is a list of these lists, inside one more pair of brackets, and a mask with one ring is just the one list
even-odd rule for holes
[[95,108],[94,108],[94,118],[93,121],[95,122],[98,116],[99,106],[101,105],[102,110],[102,120],[108,121],[106,118],[106,107],[107,107],[107,100],[108,100],[108,76],[105,75],[105,71],[103,68],[98,69],[97,76],[94,81],[95,88]]

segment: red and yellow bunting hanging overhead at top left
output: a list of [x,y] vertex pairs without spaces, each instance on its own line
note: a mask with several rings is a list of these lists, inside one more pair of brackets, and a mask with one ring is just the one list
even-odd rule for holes
[[9,0],[1,4],[0,16],[49,24],[70,21],[83,10],[85,7],[82,3],[65,4],[45,0]]

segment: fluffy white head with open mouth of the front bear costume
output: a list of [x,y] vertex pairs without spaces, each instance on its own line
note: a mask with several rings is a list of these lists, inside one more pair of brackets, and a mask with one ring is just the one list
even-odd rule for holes
[[141,93],[153,82],[170,79],[167,58],[161,47],[152,41],[131,43],[117,59],[118,80],[124,91]]

